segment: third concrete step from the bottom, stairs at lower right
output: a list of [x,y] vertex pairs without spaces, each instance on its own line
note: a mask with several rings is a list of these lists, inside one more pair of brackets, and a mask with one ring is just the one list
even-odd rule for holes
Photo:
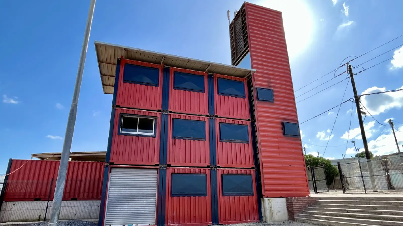
[[338,213],[349,213],[349,214],[376,214],[376,215],[388,215],[388,216],[403,216],[402,210],[366,210],[366,209],[343,209],[343,208],[320,208],[320,207],[310,207],[307,211],[316,212],[338,212]]

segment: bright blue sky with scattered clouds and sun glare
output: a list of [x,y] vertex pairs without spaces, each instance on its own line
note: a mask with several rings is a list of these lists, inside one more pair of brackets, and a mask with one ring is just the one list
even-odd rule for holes
[[[112,95],[102,91],[95,40],[231,64],[226,10],[231,10],[232,19],[233,11],[239,9],[242,2],[98,0],[71,150],[106,150]],[[361,55],[403,34],[403,14],[399,10],[403,2],[398,0],[252,2],[283,11],[295,90],[337,68],[347,56]],[[0,2],[0,52],[3,53],[0,55],[0,173],[5,172],[9,158],[26,159],[31,153],[61,151],[88,7],[89,1],[78,0]],[[399,44],[403,45],[403,37],[351,64],[360,64]],[[394,51],[390,51],[362,66],[367,68],[393,55]],[[402,66],[402,55],[396,52],[393,62],[389,60],[360,73],[355,77],[358,92],[400,88],[403,86]],[[337,74],[342,71],[338,70]],[[332,76],[299,90],[296,96]],[[343,76],[328,85],[339,82],[345,78]],[[299,121],[340,104],[345,82],[298,103]],[[381,123],[388,118],[403,123],[402,93],[371,95],[362,102]],[[345,99],[352,96],[349,84]],[[347,142],[343,135],[349,129],[349,109],[351,103],[341,106],[329,141],[329,146],[339,147],[327,148],[325,157],[341,158],[341,154],[346,153],[346,146],[340,145]],[[332,129],[337,110],[301,125],[302,140],[310,143],[306,146],[307,152],[323,154],[324,148],[319,146],[326,145],[327,131]],[[359,137],[355,129],[357,115],[353,110],[350,138]],[[378,154],[394,152],[396,147],[391,140],[390,127],[386,126],[383,135],[376,139],[384,126],[372,121],[371,117],[365,119],[368,134],[371,134],[367,134],[370,148]],[[396,123],[396,127],[403,131],[402,124]],[[403,144],[403,134],[397,135]],[[357,147],[362,148],[361,140],[355,140]],[[347,155],[351,151],[347,150]]]

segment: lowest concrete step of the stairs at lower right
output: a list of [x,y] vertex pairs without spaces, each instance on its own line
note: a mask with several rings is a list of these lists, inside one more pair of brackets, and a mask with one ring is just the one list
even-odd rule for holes
[[334,222],[347,222],[351,224],[367,224],[374,226],[403,226],[403,222],[386,221],[386,220],[372,220],[372,219],[360,219],[360,218],[345,218],[336,216],[321,216],[311,214],[298,214],[297,218],[305,218],[312,220],[327,220]]

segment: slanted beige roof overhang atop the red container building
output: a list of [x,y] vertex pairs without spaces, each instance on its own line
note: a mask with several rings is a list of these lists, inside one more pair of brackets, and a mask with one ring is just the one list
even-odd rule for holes
[[164,64],[164,66],[184,68],[207,73],[222,74],[234,77],[245,78],[253,69],[239,68],[237,66],[208,62],[185,58],[166,53],[157,53],[153,51],[115,45],[95,41],[95,50],[100,70],[102,88],[104,93],[113,94],[115,83],[116,62],[123,56],[124,59],[137,60],[152,64]]

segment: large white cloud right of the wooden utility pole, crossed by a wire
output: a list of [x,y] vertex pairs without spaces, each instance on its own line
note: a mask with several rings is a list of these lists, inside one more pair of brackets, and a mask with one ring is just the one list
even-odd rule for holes
[[[399,89],[403,89],[403,86]],[[366,89],[362,94],[384,92],[386,88],[378,88],[376,86]],[[391,108],[401,108],[403,106],[403,92],[386,92],[376,95],[361,96],[361,103],[371,113],[371,115],[379,115]],[[365,111],[365,109],[363,109]]]

